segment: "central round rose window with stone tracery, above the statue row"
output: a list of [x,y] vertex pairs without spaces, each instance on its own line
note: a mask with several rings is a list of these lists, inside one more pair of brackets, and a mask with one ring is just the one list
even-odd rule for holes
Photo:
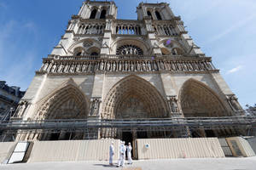
[[125,55],[125,54],[138,54],[143,55],[143,50],[138,48],[135,45],[123,45],[117,48],[116,50],[117,55]]

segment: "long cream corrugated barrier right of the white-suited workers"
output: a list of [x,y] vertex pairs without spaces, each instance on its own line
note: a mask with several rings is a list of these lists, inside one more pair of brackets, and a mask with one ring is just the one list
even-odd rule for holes
[[217,138],[137,139],[137,157],[145,159],[224,157]]

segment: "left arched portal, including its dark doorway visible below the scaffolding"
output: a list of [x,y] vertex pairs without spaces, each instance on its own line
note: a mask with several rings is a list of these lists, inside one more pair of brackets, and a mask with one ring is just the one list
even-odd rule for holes
[[[73,79],[65,82],[42,99],[38,105],[34,120],[86,119],[89,112],[89,99],[79,89]],[[72,129],[54,133],[41,132],[34,136],[39,140],[84,139],[84,133],[73,132]]]

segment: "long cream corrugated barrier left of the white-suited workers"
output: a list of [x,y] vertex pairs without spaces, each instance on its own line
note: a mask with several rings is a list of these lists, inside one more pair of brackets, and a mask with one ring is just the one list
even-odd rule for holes
[[108,161],[113,141],[114,156],[119,157],[118,139],[35,141],[28,162],[40,161]]

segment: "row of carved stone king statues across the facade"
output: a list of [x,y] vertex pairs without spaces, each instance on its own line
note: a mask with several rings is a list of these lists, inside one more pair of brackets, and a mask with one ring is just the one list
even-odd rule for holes
[[[60,59],[57,59],[60,60]],[[154,59],[125,59],[103,60],[95,59],[86,62],[73,60],[72,62],[55,62],[55,59],[44,62],[40,71],[50,73],[80,73],[95,71],[214,71],[212,63],[207,60],[164,60]]]

